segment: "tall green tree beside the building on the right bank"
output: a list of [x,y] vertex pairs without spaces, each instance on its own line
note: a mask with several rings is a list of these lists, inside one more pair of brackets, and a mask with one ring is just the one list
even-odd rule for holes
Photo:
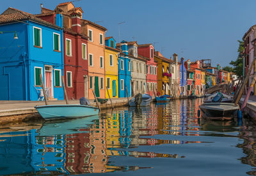
[[238,55],[236,61],[231,61],[229,64],[234,66],[234,73],[238,77],[243,75],[243,50],[244,50],[244,42],[237,40],[239,42],[239,47],[237,49]]

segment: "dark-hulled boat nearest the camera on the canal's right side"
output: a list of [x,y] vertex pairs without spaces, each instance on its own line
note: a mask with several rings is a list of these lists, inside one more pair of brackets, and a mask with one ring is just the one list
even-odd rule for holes
[[205,119],[228,120],[237,117],[239,105],[234,103],[204,103],[199,106]]

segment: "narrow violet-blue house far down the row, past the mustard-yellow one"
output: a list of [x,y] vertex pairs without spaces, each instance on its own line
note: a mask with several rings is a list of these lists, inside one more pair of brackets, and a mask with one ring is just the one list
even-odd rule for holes
[[187,95],[187,70],[184,65],[184,58],[181,57],[180,59],[180,67],[179,67],[179,72],[180,72],[180,95]]

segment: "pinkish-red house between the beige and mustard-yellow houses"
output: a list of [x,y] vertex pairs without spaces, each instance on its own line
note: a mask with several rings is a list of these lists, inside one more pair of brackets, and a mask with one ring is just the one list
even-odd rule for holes
[[157,62],[154,61],[154,46],[152,44],[138,45],[138,54],[149,58],[146,66],[147,92],[153,96],[153,90],[157,92]]

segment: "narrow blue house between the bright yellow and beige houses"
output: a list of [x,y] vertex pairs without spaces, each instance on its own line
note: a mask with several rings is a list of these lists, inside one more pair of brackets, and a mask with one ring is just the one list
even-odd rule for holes
[[127,87],[128,95],[131,96],[131,59],[128,58],[127,41],[117,44],[122,50],[118,55],[118,96],[127,97],[125,87]]

